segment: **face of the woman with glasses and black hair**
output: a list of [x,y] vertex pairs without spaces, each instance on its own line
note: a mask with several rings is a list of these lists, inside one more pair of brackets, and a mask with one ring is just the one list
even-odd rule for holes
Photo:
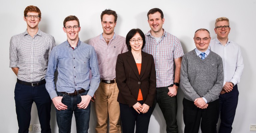
[[136,33],[130,39],[130,46],[132,48],[132,51],[141,51],[142,45],[143,45],[143,39],[142,39],[142,37],[140,36],[139,33]]

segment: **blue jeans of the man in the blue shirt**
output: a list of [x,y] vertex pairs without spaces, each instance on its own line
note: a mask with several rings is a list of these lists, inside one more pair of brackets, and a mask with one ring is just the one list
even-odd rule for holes
[[79,109],[77,104],[81,102],[81,95],[86,95],[89,90],[84,93],[77,95],[67,95],[57,92],[58,96],[63,96],[61,102],[67,105],[66,110],[57,110],[56,108],[56,119],[59,127],[59,133],[70,133],[71,132],[71,122],[73,112],[76,119],[76,132],[77,133],[88,133],[91,103],[86,109]]

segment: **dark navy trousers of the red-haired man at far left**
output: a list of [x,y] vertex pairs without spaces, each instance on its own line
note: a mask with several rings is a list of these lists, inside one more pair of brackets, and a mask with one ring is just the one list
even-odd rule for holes
[[14,90],[16,114],[19,125],[18,133],[28,133],[32,103],[36,103],[41,133],[51,133],[50,118],[52,100],[45,84],[29,86],[16,83]]

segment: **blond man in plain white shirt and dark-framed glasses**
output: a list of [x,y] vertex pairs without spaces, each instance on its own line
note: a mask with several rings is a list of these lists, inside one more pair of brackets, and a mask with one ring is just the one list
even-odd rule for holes
[[215,21],[217,38],[211,40],[210,50],[217,53],[223,61],[224,83],[219,95],[220,129],[219,133],[231,133],[238,103],[237,84],[243,73],[243,57],[240,47],[228,39],[230,32],[228,18],[221,17]]

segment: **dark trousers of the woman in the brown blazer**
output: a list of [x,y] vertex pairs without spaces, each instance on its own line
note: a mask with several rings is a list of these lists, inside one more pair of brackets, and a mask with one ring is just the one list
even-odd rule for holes
[[[138,101],[143,105],[143,101]],[[147,113],[138,113],[133,107],[129,107],[126,104],[119,103],[120,105],[120,117],[122,121],[123,133],[134,133],[136,122],[136,133],[147,133],[149,120],[151,117],[151,107],[149,107]]]

